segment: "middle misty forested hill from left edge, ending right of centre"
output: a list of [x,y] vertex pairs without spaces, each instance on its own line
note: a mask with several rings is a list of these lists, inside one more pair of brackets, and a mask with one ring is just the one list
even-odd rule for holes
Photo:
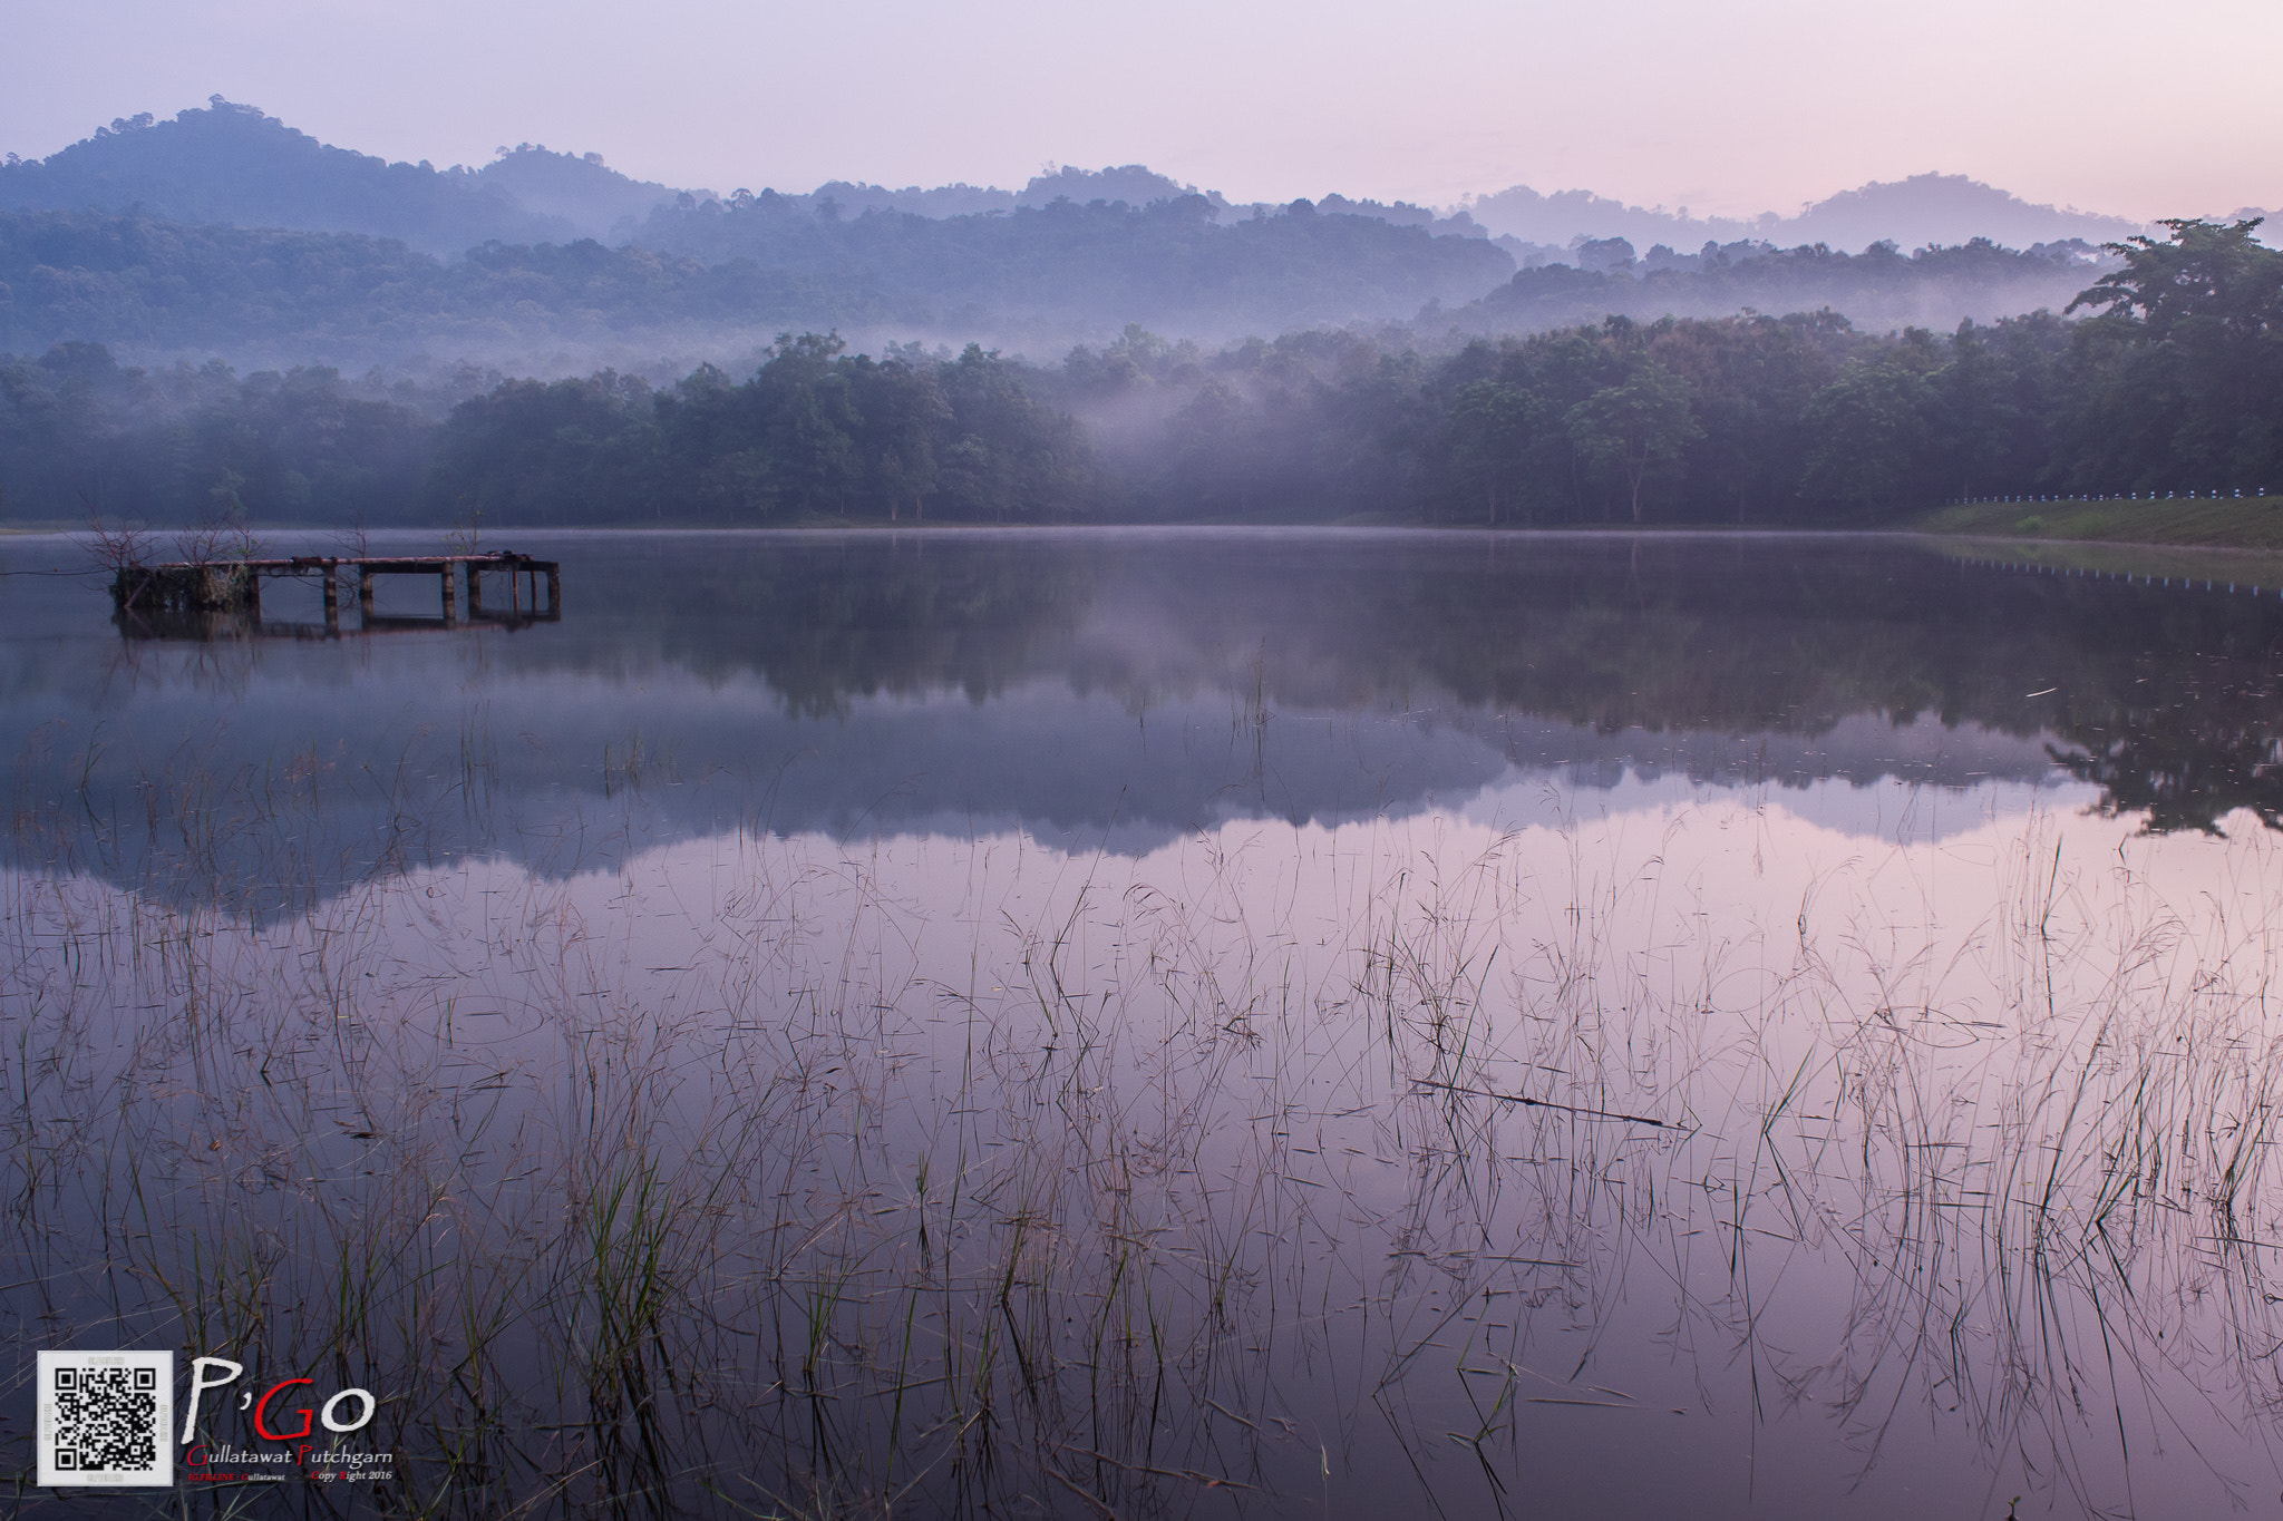
[[760,258],[721,249],[703,262],[582,239],[486,244],[445,262],[345,233],[0,214],[0,349],[100,342],[331,365],[436,353],[527,367],[566,351],[731,358],[785,328],[838,326],[865,340],[984,337],[1059,353],[1128,322],[1205,337],[1402,322],[1514,269],[1479,237],[1368,217],[1292,210],[1221,228],[1201,198],[941,221],[797,217],[756,249]]

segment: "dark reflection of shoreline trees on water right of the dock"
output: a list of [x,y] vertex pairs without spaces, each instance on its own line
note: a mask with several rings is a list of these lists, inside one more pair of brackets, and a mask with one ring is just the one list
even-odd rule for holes
[[687,588],[708,616],[664,625],[662,650],[753,670],[813,716],[1062,675],[1130,711],[1258,684],[1276,709],[1443,705],[1676,739],[1936,718],[2050,741],[2155,830],[2283,819],[2274,597],[1957,566],[1906,540],[840,540],[708,559]]

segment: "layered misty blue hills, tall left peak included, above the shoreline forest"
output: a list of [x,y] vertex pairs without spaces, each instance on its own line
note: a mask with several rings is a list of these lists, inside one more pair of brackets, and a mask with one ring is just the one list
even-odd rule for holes
[[[1514,251],[1534,267],[1516,274]],[[717,198],[530,144],[482,171],[388,164],[221,98],[0,164],[0,347],[100,342],[137,360],[562,374],[662,353],[747,363],[799,328],[1046,358],[1128,324],[1203,342],[1383,324],[1441,340],[1822,308],[1867,331],[1952,328],[2066,303],[2098,260],[2084,242],[1984,239],[1911,255],[1525,249],[1409,205],[1233,208],[1139,164],[1023,192]]]

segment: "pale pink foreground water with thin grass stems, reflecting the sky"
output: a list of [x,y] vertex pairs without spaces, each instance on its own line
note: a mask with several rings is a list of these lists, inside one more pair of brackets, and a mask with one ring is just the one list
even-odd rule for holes
[[2283,862],[2212,851],[1705,794],[267,921],[11,871],[11,1316],[372,1386],[413,1514],[1589,1514],[1644,1441],[1708,1514],[2194,1514],[2276,1398]]

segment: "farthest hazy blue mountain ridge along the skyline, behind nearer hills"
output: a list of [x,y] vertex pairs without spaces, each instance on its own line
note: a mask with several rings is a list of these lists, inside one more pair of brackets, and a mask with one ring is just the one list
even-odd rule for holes
[[[393,164],[333,148],[221,96],[169,121],[151,114],[119,119],[46,160],[9,155],[0,164],[0,210],[7,212],[142,210],[169,221],[368,233],[400,237],[443,258],[484,242],[639,242],[644,223],[658,212],[699,210],[708,201],[737,203],[751,194],[635,180],[610,169],[598,153],[550,153],[534,144],[500,148],[500,157],[482,169],[436,169],[425,160]],[[1048,166],[1023,189],[963,182],[888,189],[829,180],[813,192],[760,194],[826,217],[879,210],[950,219],[1046,208],[1059,198],[1144,208],[1183,196],[1203,196],[1221,223],[1281,210],[1274,203],[1231,203],[1219,192],[1142,164]],[[2100,244],[2146,230],[2125,217],[2034,205],[1957,173],[1870,182],[1792,217],[1692,217],[1687,208],[1639,208],[1584,189],[1541,194],[1527,185],[1468,196],[1443,210],[1340,194],[1326,194],[1315,208],[1434,233],[1493,235],[1523,265],[1568,262],[1575,244],[1612,237],[1644,251],[1662,244],[1678,253],[1696,253],[1708,242],[1829,244],[1854,253],[1874,242],[1911,251],[1975,237],[2016,249],[2066,239]]]

